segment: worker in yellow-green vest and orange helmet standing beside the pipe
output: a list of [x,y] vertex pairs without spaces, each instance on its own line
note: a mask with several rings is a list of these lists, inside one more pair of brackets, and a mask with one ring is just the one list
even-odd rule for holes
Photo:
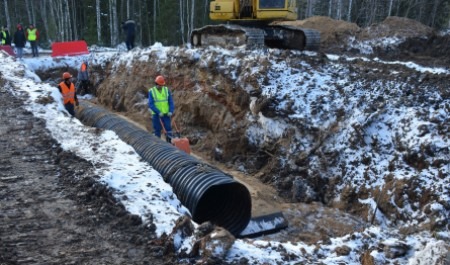
[[148,90],[148,107],[152,113],[153,133],[161,138],[161,123],[166,130],[166,141],[172,141],[171,117],[175,109],[172,94],[166,86],[164,77],[158,75],[155,78],[155,86]]

